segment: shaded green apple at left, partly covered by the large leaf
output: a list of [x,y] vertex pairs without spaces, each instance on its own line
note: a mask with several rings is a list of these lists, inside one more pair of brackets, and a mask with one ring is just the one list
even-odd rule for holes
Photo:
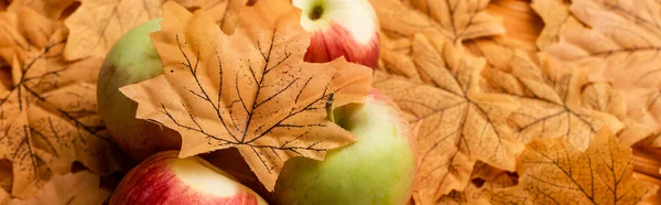
[[161,20],[151,20],[124,34],[106,56],[97,83],[99,114],[110,138],[138,161],[159,151],[178,150],[182,143],[176,131],[136,119],[138,104],[119,91],[120,87],[163,74],[163,64],[149,37],[149,33],[161,30]]

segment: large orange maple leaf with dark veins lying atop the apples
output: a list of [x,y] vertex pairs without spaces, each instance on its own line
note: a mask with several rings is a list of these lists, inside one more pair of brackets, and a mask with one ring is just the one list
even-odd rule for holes
[[204,10],[165,4],[152,34],[165,75],[121,88],[139,102],[137,117],[182,133],[180,157],[237,148],[268,190],[293,157],[323,159],[354,141],[326,119],[324,105],[360,102],[371,71],[344,58],[303,62],[310,35],[284,0],[241,10],[227,35]]

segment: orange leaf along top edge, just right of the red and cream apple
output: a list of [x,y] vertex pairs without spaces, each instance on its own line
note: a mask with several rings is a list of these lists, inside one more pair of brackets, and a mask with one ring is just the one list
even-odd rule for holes
[[454,42],[503,34],[499,20],[484,11],[489,0],[370,0],[381,30],[412,37],[424,33]]

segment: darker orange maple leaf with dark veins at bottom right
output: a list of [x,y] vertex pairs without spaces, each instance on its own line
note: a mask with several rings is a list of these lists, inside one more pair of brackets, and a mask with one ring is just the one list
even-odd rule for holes
[[529,143],[519,185],[494,191],[492,204],[636,204],[659,187],[632,176],[631,149],[605,129],[585,152],[564,138]]

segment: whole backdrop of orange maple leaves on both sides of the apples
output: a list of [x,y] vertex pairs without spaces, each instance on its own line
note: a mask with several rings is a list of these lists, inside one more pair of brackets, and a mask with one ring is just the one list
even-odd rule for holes
[[[224,30],[245,3],[176,1]],[[660,203],[661,3],[370,2],[372,86],[416,128],[412,203]],[[0,204],[102,203],[130,163],[98,117],[97,74],[162,1],[0,6]]]

